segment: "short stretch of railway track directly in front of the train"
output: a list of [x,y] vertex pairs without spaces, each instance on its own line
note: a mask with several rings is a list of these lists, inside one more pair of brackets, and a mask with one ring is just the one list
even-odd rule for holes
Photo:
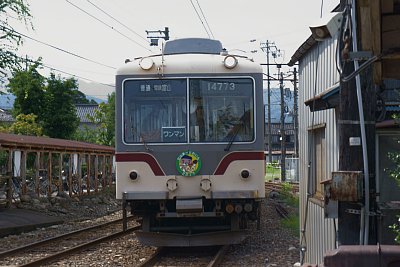
[[140,267],[151,266],[196,266],[216,267],[229,249],[229,245],[213,247],[191,247],[191,248],[158,248]]

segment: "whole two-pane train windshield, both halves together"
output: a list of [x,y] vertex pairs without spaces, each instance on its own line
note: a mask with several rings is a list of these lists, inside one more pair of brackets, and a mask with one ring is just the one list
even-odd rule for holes
[[251,142],[253,112],[250,78],[124,82],[126,143]]

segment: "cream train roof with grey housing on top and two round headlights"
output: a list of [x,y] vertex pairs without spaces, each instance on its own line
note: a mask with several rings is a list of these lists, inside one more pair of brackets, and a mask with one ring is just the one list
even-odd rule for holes
[[[229,58],[234,67],[224,63]],[[253,60],[229,54],[220,41],[186,38],[168,41],[164,53],[127,60],[117,75],[201,74],[201,73],[261,73],[262,67]]]

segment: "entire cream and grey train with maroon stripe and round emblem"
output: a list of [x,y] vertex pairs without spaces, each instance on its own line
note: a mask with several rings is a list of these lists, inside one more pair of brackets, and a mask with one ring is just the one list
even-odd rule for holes
[[265,196],[262,68],[180,39],[116,76],[116,194],[152,246],[240,243]]

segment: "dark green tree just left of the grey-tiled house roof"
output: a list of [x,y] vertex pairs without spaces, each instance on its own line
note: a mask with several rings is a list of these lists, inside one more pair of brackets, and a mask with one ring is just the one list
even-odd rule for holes
[[79,125],[73,104],[73,91],[78,85],[75,79],[62,80],[54,73],[47,79],[43,131],[53,138],[69,139]]

